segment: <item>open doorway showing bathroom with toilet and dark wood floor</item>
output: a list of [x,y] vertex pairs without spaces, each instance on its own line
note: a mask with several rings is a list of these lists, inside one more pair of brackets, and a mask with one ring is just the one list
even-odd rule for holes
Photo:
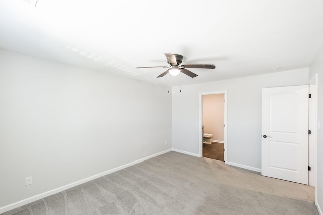
[[203,157],[225,161],[226,92],[201,95]]

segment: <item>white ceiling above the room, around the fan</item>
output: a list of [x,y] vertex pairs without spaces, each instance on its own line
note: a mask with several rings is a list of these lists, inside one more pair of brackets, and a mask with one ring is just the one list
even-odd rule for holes
[[[169,86],[306,68],[322,45],[322,0],[0,0],[0,48]],[[165,52],[216,69],[135,69]]]

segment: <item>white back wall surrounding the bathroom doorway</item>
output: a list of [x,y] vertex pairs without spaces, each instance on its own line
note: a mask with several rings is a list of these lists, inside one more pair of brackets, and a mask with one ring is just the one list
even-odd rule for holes
[[199,94],[227,90],[227,162],[261,168],[261,89],[305,85],[308,69],[182,86],[173,89],[172,143],[176,150],[199,153]]

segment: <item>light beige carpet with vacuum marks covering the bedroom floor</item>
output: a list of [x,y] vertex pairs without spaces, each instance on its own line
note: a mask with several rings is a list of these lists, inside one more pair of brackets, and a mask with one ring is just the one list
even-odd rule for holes
[[318,214],[314,187],[169,152],[5,213]]

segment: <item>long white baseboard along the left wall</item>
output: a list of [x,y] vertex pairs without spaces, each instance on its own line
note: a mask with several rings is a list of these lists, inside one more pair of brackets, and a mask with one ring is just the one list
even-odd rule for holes
[[65,186],[62,186],[62,187],[59,187],[59,188],[56,188],[56,189],[53,189],[53,190],[49,190],[47,192],[44,192],[44,193],[41,193],[41,194],[38,194],[38,195],[35,195],[35,196],[32,196],[30,198],[26,198],[26,199],[23,199],[21,201],[18,201],[18,202],[15,202],[15,203],[12,203],[12,204],[9,204],[9,205],[6,205],[6,206],[3,206],[3,207],[0,207],[0,214],[4,213],[4,212],[7,212],[9,210],[12,210],[12,209],[15,209],[17,207],[20,207],[20,206],[23,206],[25,204],[29,204],[31,202],[34,202],[34,201],[37,201],[39,199],[42,199],[42,198],[45,198],[47,196],[50,196],[50,195],[53,195],[53,194],[56,194],[56,193],[59,193],[59,192],[62,192],[63,190],[67,190],[69,188],[72,188],[72,187],[75,187],[77,185],[80,185],[80,184],[83,184],[85,182],[88,182],[88,181],[91,181],[91,180],[94,180],[94,179],[97,179],[99,177],[102,177],[102,176],[105,176],[107,174],[110,174],[110,173],[113,173],[113,172],[116,172],[118,170],[122,170],[124,168],[127,168],[127,167],[130,167],[132,165],[135,165],[135,164],[138,164],[140,162],[143,162],[144,160],[147,160],[147,159],[150,159],[152,157],[156,157],[158,155],[161,155],[161,154],[165,154],[167,152],[170,152],[172,151],[172,149],[168,149],[168,150],[165,150],[165,151],[161,151],[159,153],[156,153],[156,154],[152,154],[150,156],[147,156],[147,157],[144,157],[144,158],[141,158],[141,159],[138,159],[138,160],[135,160],[134,162],[130,162],[128,164],[125,164],[125,165],[122,165],[120,167],[116,167],[114,169],[111,169],[111,170],[107,170],[107,171],[104,171],[102,173],[99,173],[99,174],[96,174],[94,176],[90,176],[88,178],[85,178],[85,179],[82,179],[82,180],[79,180],[79,181],[76,181],[76,182],[73,182],[71,184],[68,184],[68,185],[65,185]]

